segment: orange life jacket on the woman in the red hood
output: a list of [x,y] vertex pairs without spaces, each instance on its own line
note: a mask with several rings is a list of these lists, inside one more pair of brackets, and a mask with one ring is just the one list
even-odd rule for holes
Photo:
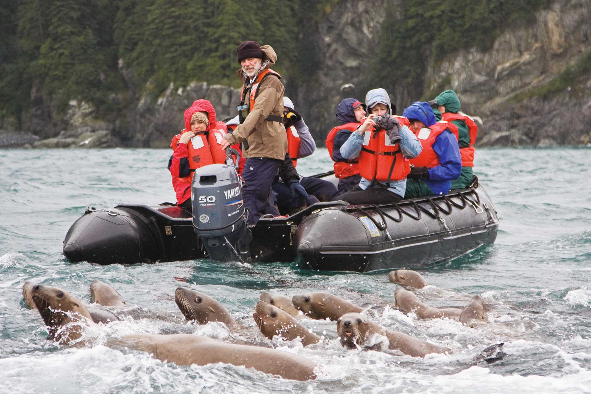
[[[176,149],[178,140],[181,135],[187,132],[187,129],[181,130],[180,134],[173,137],[170,147]],[[210,128],[209,134],[200,132],[190,139],[187,144],[189,150],[189,168],[191,173],[189,176],[181,178],[187,183],[193,181],[193,174],[197,168],[209,164],[225,164],[226,152],[223,151],[222,146],[225,143],[223,136],[226,135],[226,125],[223,122],[216,121],[213,128]]]

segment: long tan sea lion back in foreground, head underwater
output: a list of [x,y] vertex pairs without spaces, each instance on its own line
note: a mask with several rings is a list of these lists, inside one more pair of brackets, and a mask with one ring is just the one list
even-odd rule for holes
[[316,364],[297,354],[265,347],[223,343],[192,334],[131,334],[121,340],[108,342],[108,346],[147,351],[158,360],[177,365],[226,363],[254,368],[285,379],[316,379]]

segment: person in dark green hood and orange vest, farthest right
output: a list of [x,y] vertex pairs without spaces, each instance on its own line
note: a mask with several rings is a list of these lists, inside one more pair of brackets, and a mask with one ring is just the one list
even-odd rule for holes
[[458,145],[462,157],[462,174],[452,181],[452,189],[463,189],[472,183],[474,175],[474,143],[478,134],[478,126],[472,118],[460,112],[460,99],[451,89],[441,92],[429,102],[438,121],[452,122],[459,131]]

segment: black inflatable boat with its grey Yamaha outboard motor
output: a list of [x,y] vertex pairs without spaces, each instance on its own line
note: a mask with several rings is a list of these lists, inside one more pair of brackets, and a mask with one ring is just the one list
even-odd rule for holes
[[[334,172],[316,175],[337,181]],[[317,203],[247,225],[241,183],[230,165],[196,170],[194,216],[175,206],[87,208],[64,239],[70,262],[293,262],[319,271],[426,268],[495,242],[495,207],[476,180],[465,190],[387,205]]]

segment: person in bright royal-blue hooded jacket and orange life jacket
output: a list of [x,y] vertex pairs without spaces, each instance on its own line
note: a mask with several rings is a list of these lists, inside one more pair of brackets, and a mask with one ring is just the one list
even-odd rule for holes
[[449,123],[437,122],[427,102],[414,102],[402,115],[423,146],[421,154],[410,159],[414,167],[407,176],[404,198],[448,193],[452,181],[462,172],[457,136],[450,131]]

